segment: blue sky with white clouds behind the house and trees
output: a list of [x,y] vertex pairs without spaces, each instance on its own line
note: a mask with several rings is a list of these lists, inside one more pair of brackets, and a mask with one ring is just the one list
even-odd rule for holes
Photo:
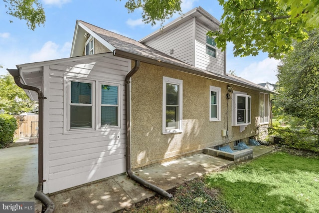
[[[124,7],[126,0],[39,0],[42,2],[46,22],[34,31],[24,20],[5,13],[0,1],[0,75],[6,68],[16,68],[16,64],[38,62],[70,56],[70,49],[77,19],[89,22],[104,29],[114,31],[135,40],[147,36],[160,28],[160,25],[144,24],[141,10],[128,13]],[[223,9],[217,0],[183,0],[182,10],[187,12],[201,6],[218,20]],[[169,22],[179,15],[176,14]],[[10,23],[9,20],[13,20]],[[232,45],[227,45],[227,72],[255,83],[276,83],[276,67],[279,61],[268,58],[266,53],[258,56],[234,57]]]

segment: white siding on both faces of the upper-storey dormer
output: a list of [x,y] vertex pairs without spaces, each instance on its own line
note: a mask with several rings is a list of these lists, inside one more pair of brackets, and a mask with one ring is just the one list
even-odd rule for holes
[[[190,19],[145,44],[197,68],[224,75],[225,53],[216,48],[216,58],[206,54],[206,33],[209,30],[196,19]],[[172,54],[170,50],[173,50]]]

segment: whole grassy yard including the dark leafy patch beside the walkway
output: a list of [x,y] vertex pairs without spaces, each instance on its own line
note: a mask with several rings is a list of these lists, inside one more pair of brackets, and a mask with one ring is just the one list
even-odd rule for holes
[[275,152],[174,188],[124,213],[318,213],[319,159]]

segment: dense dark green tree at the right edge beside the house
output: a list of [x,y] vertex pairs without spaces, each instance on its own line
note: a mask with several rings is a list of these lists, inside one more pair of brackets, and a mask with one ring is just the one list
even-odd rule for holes
[[294,47],[277,69],[280,94],[275,96],[276,105],[284,115],[318,132],[319,29],[309,32],[309,39],[295,42]]

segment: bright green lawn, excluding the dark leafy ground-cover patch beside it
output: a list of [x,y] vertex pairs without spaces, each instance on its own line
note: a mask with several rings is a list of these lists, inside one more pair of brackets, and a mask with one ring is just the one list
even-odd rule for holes
[[318,213],[319,160],[277,152],[206,176],[235,213]]

